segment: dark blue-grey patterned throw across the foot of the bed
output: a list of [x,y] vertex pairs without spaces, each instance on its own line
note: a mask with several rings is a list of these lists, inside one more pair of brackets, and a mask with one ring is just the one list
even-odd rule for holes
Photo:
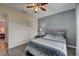
[[[30,41],[28,43],[28,47],[29,47],[29,49],[27,49],[27,51],[29,51],[29,52],[36,51],[37,53],[39,53],[40,55],[43,55],[43,56],[65,56],[64,52],[60,51],[59,49],[56,49],[54,47],[52,48],[49,46],[45,46],[42,44],[38,44],[33,41]],[[32,54],[34,54],[34,52]]]

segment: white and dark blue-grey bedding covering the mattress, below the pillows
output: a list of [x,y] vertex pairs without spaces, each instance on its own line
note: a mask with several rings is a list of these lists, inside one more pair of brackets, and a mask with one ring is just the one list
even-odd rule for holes
[[27,51],[35,56],[65,56],[67,55],[66,41],[43,38],[34,39],[28,43]]

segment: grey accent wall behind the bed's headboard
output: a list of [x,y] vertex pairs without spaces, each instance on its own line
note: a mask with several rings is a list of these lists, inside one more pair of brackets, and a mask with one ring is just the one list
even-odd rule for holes
[[68,45],[76,45],[75,9],[41,18],[38,22],[43,29],[67,29]]

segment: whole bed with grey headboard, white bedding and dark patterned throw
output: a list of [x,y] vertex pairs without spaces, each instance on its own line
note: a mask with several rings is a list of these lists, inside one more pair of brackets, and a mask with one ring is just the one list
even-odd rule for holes
[[65,30],[47,30],[45,35],[31,40],[26,47],[30,56],[67,56]]

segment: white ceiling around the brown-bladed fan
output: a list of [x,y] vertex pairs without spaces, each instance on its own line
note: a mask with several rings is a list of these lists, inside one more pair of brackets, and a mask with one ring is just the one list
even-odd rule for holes
[[46,7],[46,11],[40,11],[38,13],[34,13],[32,9],[26,8],[26,6],[29,5],[27,3],[11,3],[5,5],[21,12],[25,11],[26,13],[29,13],[30,15],[36,18],[43,18],[49,15],[53,15],[59,12],[63,12],[75,8],[74,3],[48,3]]

